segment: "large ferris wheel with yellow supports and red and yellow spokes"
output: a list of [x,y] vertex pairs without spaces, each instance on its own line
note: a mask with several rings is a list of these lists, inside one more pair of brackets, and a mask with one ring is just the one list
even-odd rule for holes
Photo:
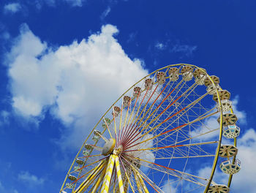
[[241,169],[236,121],[219,77],[191,64],[157,69],[91,129],[60,192],[227,193]]

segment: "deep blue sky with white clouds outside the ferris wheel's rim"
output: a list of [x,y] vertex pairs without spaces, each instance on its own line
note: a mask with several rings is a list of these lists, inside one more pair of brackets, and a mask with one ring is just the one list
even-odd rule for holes
[[0,192],[58,192],[88,132],[81,128],[140,77],[177,63],[207,69],[230,91],[243,167],[231,192],[254,192],[255,8],[252,0],[1,1]]

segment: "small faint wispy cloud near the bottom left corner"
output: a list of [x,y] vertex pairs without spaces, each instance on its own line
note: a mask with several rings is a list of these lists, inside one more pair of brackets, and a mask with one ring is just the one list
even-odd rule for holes
[[37,175],[32,175],[28,171],[19,173],[18,180],[28,183],[29,186],[38,186],[45,182],[44,178],[38,178]]

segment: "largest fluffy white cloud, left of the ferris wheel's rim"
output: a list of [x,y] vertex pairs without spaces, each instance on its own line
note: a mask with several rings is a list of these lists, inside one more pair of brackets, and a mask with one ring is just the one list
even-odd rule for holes
[[147,75],[140,60],[124,53],[116,33],[115,26],[102,26],[88,39],[52,50],[23,25],[7,57],[12,107],[26,118],[50,109],[64,124],[75,124],[61,141],[80,145],[107,107]]

